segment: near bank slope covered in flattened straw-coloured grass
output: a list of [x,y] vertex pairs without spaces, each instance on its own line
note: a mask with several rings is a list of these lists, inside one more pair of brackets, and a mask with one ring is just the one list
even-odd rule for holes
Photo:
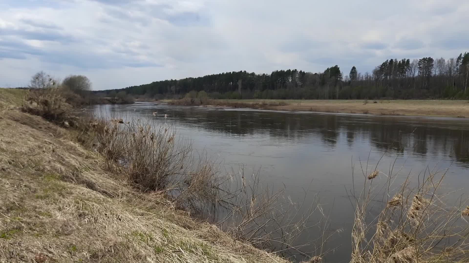
[[286,262],[136,193],[22,96],[0,96],[0,262]]

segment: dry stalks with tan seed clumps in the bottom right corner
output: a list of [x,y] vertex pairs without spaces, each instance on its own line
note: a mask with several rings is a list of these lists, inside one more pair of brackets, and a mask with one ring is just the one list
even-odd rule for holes
[[[439,194],[445,175],[427,169],[415,187],[408,176],[393,191],[399,172],[393,174],[391,168],[382,186],[374,186],[375,180],[363,172],[363,190],[351,192],[356,205],[351,262],[468,262],[469,228],[463,218],[467,209],[461,199],[459,205],[446,205],[445,195]],[[385,205],[370,218],[371,202],[383,192]]]

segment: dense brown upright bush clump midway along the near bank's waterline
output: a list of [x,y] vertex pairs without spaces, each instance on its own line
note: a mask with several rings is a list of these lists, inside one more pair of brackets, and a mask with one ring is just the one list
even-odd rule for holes
[[125,176],[142,192],[166,195],[174,205],[195,215],[219,202],[223,178],[206,156],[177,139],[166,125],[123,119],[89,121],[88,145],[106,160],[108,170]]

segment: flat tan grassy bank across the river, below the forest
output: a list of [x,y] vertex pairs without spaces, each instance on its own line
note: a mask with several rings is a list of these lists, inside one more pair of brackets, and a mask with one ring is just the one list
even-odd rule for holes
[[187,99],[169,102],[176,105],[228,106],[265,110],[363,113],[378,115],[409,115],[469,117],[469,103],[462,100],[202,100]]

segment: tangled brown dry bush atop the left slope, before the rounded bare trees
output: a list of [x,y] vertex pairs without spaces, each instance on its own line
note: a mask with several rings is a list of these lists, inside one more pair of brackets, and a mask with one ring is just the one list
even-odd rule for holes
[[61,123],[69,117],[72,107],[65,101],[60,88],[45,88],[31,90],[22,110]]

